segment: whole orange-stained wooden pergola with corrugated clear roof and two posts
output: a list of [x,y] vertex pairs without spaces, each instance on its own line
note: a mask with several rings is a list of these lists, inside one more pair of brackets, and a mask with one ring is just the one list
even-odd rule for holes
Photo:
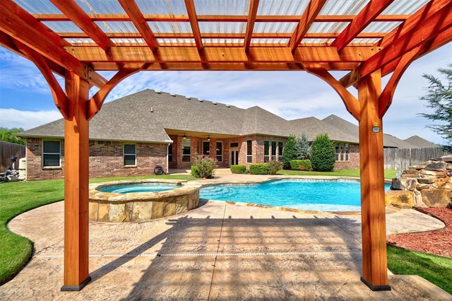
[[410,63],[451,40],[450,0],[1,0],[0,45],[40,69],[66,119],[61,290],[90,281],[90,119],[121,80],[160,70],[307,71],[329,83],[359,122],[362,281],[389,290],[382,117]]

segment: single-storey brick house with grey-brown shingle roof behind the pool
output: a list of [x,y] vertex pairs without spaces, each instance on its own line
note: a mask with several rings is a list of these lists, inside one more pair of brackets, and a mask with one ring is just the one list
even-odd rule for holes
[[[335,115],[286,120],[261,107],[233,105],[143,90],[102,106],[90,122],[90,177],[150,175],[189,169],[196,155],[215,158],[218,167],[280,160],[290,134],[313,141],[328,133],[335,141],[335,168],[359,168],[358,127]],[[27,178],[64,177],[64,119],[23,131]],[[409,147],[385,135],[385,147]]]

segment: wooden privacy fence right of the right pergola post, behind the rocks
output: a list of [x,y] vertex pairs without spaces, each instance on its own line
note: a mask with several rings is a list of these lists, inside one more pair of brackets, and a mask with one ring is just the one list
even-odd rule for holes
[[410,165],[420,165],[432,158],[449,154],[444,148],[385,148],[384,168],[408,170]]

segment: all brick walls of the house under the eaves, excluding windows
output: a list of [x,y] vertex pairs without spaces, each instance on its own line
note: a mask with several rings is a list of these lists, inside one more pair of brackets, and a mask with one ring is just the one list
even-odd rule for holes
[[[191,162],[182,162],[182,136],[170,136],[174,143],[172,161],[169,168],[189,170]],[[191,139],[191,158],[201,154],[206,137],[187,136]],[[238,143],[239,164],[249,168],[252,163],[246,162],[246,141],[252,142],[252,163],[263,163],[264,141],[285,141],[286,138],[274,136],[239,136],[234,138],[211,138],[210,157],[216,158],[216,145],[222,142],[222,161],[218,167],[230,167],[230,143]],[[166,170],[167,144],[135,143],[136,166],[124,166],[124,143],[119,141],[90,141],[90,177],[120,177],[132,175],[152,175],[155,165],[162,165]],[[336,162],[335,170],[359,169],[359,146],[350,144],[350,160]],[[27,143],[27,179],[62,179],[64,178],[64,141],[61,140],[61,167],[42,167],[42,139],[28,138]]]

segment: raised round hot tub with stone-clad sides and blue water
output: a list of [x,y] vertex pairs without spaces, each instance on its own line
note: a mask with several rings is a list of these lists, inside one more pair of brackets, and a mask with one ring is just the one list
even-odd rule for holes
[[[161,189],[163,186],[165,190]],[[143,192],[129,192],[137,187]],[[201,185],[174,179],[90,184],[90,220],[143,222],[184,213],[198,206],[200,188]],[[109,189],[124,189],[124,193],[108,192]]]

